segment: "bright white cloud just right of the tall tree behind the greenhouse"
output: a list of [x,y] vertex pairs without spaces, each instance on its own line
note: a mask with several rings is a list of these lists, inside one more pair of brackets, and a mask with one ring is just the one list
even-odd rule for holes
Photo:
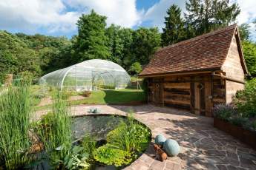
[[136,0],[67,0],[70,7],[80,10],[95,10],[107,16],[107,23],[122,27],[134,27],[140,24],[143,11],[137,11]]

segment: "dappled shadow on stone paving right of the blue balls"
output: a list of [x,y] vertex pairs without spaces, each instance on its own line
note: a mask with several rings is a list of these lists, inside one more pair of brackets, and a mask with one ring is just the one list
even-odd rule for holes
[[[170,120],[163,133],[183,147],[178,154],[189,169],[256,169],[255,151],[200,120]],[[175,129],[175,130],[174,130]]]

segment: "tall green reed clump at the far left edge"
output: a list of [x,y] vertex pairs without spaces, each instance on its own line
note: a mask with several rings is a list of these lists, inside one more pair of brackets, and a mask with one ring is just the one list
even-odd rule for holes
[[[5,169],[19,169],[31,158],[27,154],[31,142],[30,83],[10,86],[0,96],[0,157]],[[1,160],[0,159],[0,160]]]

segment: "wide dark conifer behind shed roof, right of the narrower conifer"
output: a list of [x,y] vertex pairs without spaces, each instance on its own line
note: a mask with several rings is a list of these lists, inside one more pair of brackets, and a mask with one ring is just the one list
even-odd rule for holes
[[195,35],[226,27],[240,13],[238,4],[230,4],[229,0],[189,0],[186,1],[186,10],[186,22],[194,27]]

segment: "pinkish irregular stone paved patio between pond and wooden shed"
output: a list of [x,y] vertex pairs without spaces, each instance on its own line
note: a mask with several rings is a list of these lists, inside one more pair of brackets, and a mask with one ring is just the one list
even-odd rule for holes
[[[92,106],[83,105],[72,108],[74,115],[87,114]],[[135,118],[145,123],[152,132],[152,141],[158,134],[177,140],[182,151],[177,157],[168,157],[165,162],[155,160],[151,144],[126,170],[144,169],[256,169],[256,152],[240,143],[234,137],[213,127],[213,119],[195,116],[189,112],[157,107],[143,106],[93,106],[102,113],[125,115],[133,110]],[[45,112],[37,112],[37,116]],[[255,143],[256,144],[256,143]]]

